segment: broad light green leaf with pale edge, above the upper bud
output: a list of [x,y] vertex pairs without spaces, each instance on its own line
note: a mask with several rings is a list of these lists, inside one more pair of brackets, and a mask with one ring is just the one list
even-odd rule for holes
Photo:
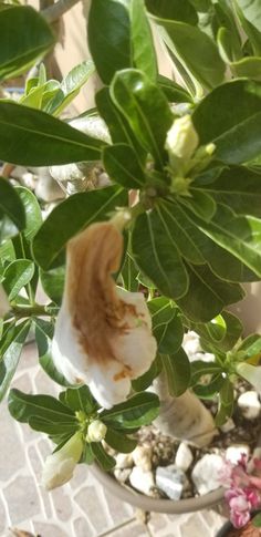
[[[211,90],[221,84],[226,65],[216,43],[199,28],[186,22],[158,18],[168,49],[177,55],[182,68],[196,83]],[[201,93],[201,90],[198,90]]]

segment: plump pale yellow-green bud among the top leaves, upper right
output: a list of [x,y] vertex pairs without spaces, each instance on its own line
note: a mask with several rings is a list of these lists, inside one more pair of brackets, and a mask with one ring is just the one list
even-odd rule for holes
[[169,154],[170,164],[176,158],[185,162],[191,158],[199,144],[199,137],[189,114],[175,120],[166,138],[166,149]]

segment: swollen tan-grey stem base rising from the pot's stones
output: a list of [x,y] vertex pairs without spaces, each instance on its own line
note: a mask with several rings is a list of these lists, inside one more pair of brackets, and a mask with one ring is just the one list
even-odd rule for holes
[[160,401],[160,413],[154,422],[156,427],[198,447],[211,442],[217,433],[212,415],[194,393],[187,390],[179,397],[170,396],[165,373],[154,382],[154,391]]

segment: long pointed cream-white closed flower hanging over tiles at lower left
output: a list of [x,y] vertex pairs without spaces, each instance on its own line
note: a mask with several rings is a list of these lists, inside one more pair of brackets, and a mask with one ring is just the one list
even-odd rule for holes
[[63,447],[49,455],[42,472],[42,485],[46,490],[67,483],[83,452],[82,433],[75,433]]

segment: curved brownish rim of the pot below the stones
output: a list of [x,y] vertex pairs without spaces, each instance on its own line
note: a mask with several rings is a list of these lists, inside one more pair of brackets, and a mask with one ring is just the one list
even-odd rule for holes
[[128,504],[139,507],[146,512],[180,515],[182,513],[192,513],[196,510],[206,509],[207,507],[212,507],[220,504],[223,499],[223,487],[219,487],[216,490],[203,494],[202,496],[187,499],[174,500],[150,498],[149,496],[145,496],[136,490],[128,489],[124,485],[121,485],[115,477],[101,469],[96,463],[90,466],[90,471],[102,485],[114,494],[114,496],[117,496],[123,502],[127,502]]

